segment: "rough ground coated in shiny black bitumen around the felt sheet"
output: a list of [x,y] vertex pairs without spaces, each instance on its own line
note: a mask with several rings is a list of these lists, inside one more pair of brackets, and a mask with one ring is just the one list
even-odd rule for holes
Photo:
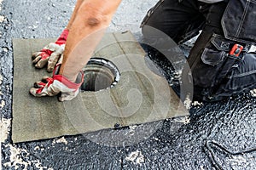
[[[160,127],[149,132],[152,135],[145,139],[137,135],[135,139],[142,139],[134,144],[126,145],[117,137],[127,133],[132,136],[137,130],[147,133],[146,125],[12,144],[12,38],[58,37],[75,1],[0,3],[1,139],[6,135],[2,143],[3,169],[255,169],[256,98],[251,93],[194,105],[185,123],[159,122]],[[110,30],[139,31],[140,21],[154,3],[123,1]],[[168,70],[165,63],[158,64]],[[92,138],[98,140],[93,142]],[[104,145],[114,139],[115,146]]]

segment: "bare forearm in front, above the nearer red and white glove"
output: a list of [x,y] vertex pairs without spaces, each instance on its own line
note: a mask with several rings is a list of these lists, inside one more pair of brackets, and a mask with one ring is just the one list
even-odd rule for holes
[[69,28],[60,74],[71,81],[90,59],[121,0],[84,0]]

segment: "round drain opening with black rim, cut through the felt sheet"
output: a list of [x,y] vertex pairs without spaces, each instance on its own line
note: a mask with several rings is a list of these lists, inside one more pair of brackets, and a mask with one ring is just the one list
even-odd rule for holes
[[91,58],[84,69],[81,91],[99,91],[112,88],[119,82],[119,70],[108,59]]

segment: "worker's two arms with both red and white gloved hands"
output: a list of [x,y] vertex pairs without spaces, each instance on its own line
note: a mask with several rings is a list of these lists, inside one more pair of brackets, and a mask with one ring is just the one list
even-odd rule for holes
[[121,0],[77,1],[61,37],[32,55],[35,66],[43,68],[48,65],[47,71],[54,70],[61,56],[63,60],[61,66],[57,64],[52,77],[44,77],[42,82],[35,83],[30,94],[43,97],[61,93],[60,101],[71,100],[79,94],[79,87],[84,80],[81,70],[101,41],[120,2]]

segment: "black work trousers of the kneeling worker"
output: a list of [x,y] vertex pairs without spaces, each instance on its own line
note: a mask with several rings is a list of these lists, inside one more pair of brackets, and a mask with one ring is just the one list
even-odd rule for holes
[[256,88],[255,54],[241,53],[237,58],[229,55],[236,42],[225,38],[221,24],[227,4],[226,1],[208,4],[197,0],[160,0],[142,22],[143,36],[154,41],[158,41],[157,35],[148,26],[164,32],[177,44],[195,37],[201,30],[188,63],[194,94],[205,99],[223,99]]

